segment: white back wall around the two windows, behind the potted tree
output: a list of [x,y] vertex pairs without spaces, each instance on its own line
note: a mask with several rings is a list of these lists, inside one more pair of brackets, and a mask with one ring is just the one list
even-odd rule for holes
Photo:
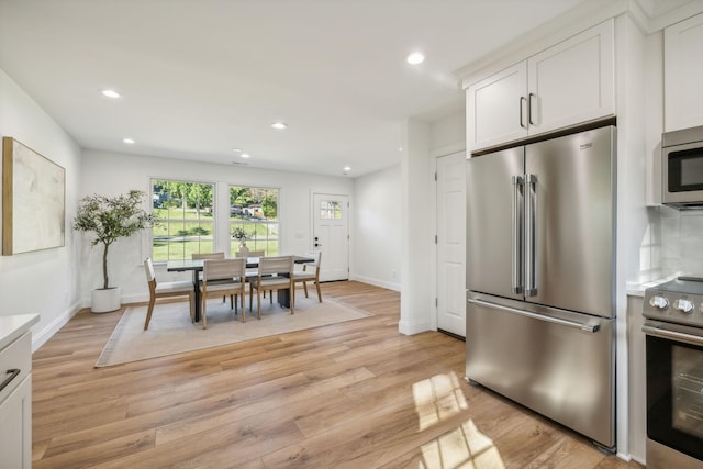
[[[311,197],[313,192],[347,194],[354,206],[354,181],[345,177],[323,177],[97,150],[83,152],[82,176],[81,196],[92,193],[115,196],[130,189],[148,193],[150,178],[214,182],[217,186],[215,193],[224,197],[224,201],[217,205],[219,213],[215,220],[228,217],[227,185],[280,188],[280,250],[290,254],[300,254],[312,248]],[[354,230],[354,220],[350,220],[350,230]],[[220,239],[228,242],[226,223],[217,224],[215,231]],[[88,237],[82,239],[79,252],[80,298],[86,306],[89,305],[91,290],[101,283],[101,250],[91,248],[88,241]],[[223,250],[226,247],[226,244],[217,246]],[[111,284],[122,288],[122,301],[134,302],[148,299],[142,266],[144,258],[150,254],[148,233],[144,232],[129,239],[121,239],[111,249],[109,258]],[[164,266],[157,266],[156,275],[161,280],[190,278],[185,272],[168,273]]]

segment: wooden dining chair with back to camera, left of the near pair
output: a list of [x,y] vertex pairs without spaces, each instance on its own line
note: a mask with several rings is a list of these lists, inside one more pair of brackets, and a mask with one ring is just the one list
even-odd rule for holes
[[242,322],[246,322],[244,309],[246,260],[237,259],[205,259],[200,283],[202,328],[208,328],[208,295],[224,294],[234,298],[233,310],[237,314],[237,300],[242,303]]

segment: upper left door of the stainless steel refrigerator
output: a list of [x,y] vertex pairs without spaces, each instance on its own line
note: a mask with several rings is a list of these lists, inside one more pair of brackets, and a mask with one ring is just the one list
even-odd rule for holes
[[522,254],[522,234],[515,227],[522,202],[516,200],[515,178],[522,177],[523,165],[524,147],[467,161],[466,277],[471,290],[523,298],[513,286],[514,277],[522,275],[521,264],[515,264]]

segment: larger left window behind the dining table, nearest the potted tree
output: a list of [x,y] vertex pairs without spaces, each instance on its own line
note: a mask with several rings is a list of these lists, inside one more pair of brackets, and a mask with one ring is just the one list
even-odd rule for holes
[[214,185],[153,180],[152,190],[153,213],[160,220],[152,228],[152,258],[190,259],[193,253],[212,253]]

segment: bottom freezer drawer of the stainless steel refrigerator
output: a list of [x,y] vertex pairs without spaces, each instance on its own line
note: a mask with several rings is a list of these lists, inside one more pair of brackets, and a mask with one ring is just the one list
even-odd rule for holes
[[469,293],[467,378],[614,447],[614,320],[523,305]]

